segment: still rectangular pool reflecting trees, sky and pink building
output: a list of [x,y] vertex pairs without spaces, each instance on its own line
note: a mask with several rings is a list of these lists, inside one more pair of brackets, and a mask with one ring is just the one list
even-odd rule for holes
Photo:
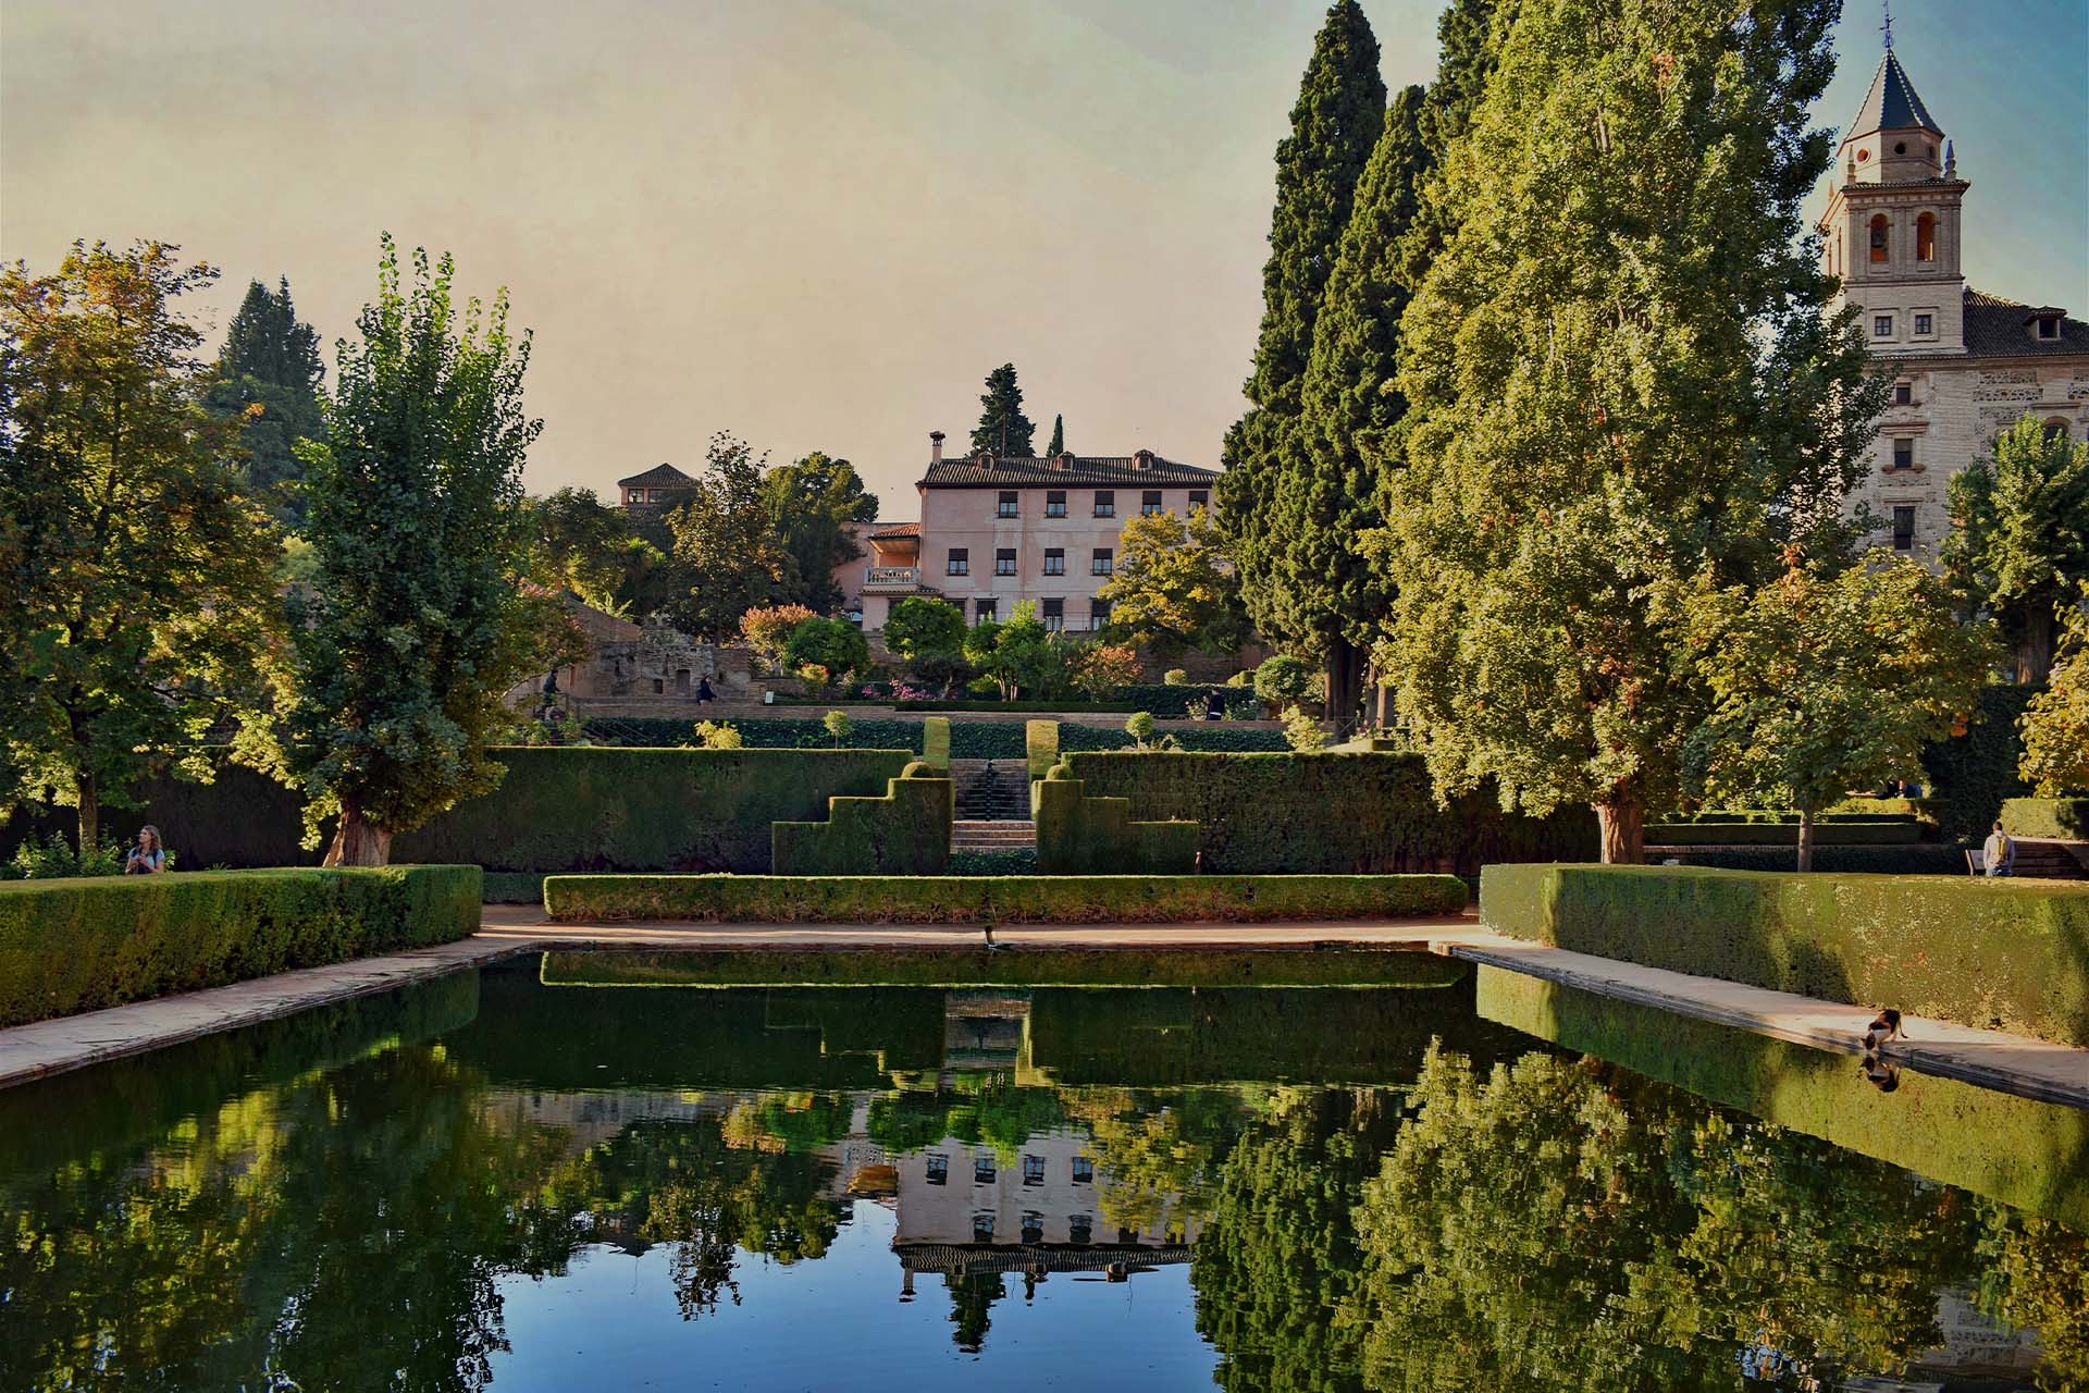
[[1446,977],[554,954],[4,1090],[0,1389],[2089,1387],[2089,1113]]

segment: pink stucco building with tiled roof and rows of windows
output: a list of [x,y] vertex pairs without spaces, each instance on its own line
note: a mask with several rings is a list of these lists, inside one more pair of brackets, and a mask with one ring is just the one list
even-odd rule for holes
[[1028,599],[1049,629],[1086,633],[1107,620],[1095,593],[1116,568],[1124,520],[1210,507],[1216,482],[1218,470],[1151,449],[944,459],[938,430],[915,485],[921,520],[867,524],[859,543],[869,556],[840,568],[836,581],[865,629],[884,629],[896,599],[940,595],[969,622],[1007,618]]

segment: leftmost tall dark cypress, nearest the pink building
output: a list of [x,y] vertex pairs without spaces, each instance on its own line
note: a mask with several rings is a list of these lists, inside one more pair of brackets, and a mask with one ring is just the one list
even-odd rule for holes
[[1276,209],[1270,215],[1270,259],[1262,267],[1262,334],[1253,372],[1241,388],[1249,407],[1226,432],[1226,472],[1218,480],[1220,518],[1241,568],[1247,612],[1266,637],[1304,647],[1314,645],[1314,635],[1287,624],[1289,610],[1278,597],[1274,558],[1283,541],[1270,526],[1270,503],[1285,439],[1299,418],[1320,297],[1349,223],[1356,182],[1383,123],[1379,40],[1356,0],[1335,0],[1314,38],[1291,109],[1291,134],[1276,146]]

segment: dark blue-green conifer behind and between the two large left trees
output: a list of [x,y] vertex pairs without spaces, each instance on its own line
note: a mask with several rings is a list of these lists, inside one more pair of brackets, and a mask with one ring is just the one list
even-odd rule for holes
[[236,422],[247,487],[286,522],[305,516],[297,489],[305,466],[295,447],[322,436],[324,376],[320,336],[299,322],[290,282],[278,280],[274,292],[259,280],[249,284],[203,388],[203,407]]

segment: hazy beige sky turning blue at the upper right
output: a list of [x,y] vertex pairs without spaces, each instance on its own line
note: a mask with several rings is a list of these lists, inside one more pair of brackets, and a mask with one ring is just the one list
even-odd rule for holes
[[[1439,0],[1364,0],[1389,88]],[[0,259],[178,242],[328,345],[378,232],[535,330],[533,491],[731,430],[915,518],[1013,361],[1044,449],[1218,466],[1324,0],[0,0]],[[1882,52],[1849,0],[1817,121]],[[2089,315],[2089,0],[1899,0],[1982,290]],[[1822,205],[1815,194],[1813,209]],[[332,372],[328,374],[332,378]]]

